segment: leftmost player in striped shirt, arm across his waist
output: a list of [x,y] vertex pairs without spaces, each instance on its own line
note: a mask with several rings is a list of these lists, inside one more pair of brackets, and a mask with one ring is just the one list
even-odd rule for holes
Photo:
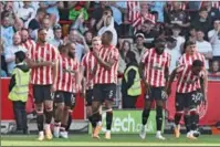
[[[45,137],[52,139],[50,124],[53,117],[52,93],[55,90],[59,52],[45,41],[46,30],[38,30],[38,42],[28,52],[31,83],[36,109],[39,140],[44,139],[43,123],[45,115]],[[44,114],[44,115],[43,115]]]

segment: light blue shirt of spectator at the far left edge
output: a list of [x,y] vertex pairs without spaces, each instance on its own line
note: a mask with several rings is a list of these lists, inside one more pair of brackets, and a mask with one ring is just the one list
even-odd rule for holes
[[3,43],[4,48],[12,45],[13,34],[14,34],[14,31],[12,27],[8,27],[8,28],[1,27],[1,39],[4,42]]

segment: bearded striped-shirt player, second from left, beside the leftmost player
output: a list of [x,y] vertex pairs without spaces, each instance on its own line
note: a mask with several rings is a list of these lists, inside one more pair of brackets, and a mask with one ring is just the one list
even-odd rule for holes
[[[78,62],[73,59],[75,54],[75,44],[69,43],[61,45],[61,57],[59,60],[59,74],[56,82],[56,92],[54,95],[55,127],[54,136],[59,138],[69,138],[66,126],[69,112],[75,104],[76,84],[78,84]],[[61,127],[60,127],[61,126]]]

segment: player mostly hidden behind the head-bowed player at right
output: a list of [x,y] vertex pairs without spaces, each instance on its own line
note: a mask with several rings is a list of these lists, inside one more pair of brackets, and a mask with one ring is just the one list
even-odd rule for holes
[[[205,64],[205,56],[201,53],[197,52],[196,42],[188,41],[186,43],[186,53],[180,57],[179,65],[184,65],[184,64],[192,65],[192,62],[195,60],[200,60]],[[198,86],[198,90],[201,88],[199,81],[197,81],[197,86]],[[207,78],[205,78],[205,87],[207,87]],[[187,133],[190,130],[189,126],[187,126],[187,124],[188,124],[187,122],[189,122],[189,114],[187,112],[177,111],[175,114],[175,129],[174,129],[176,138],[179,138],[179,136],[180,136],[179,122],[180,122],[182,115],[184,115],[184,120],[186,124]],[[199,115],[197,116],[197,119],[198,119],[197,122],[199,122]]]

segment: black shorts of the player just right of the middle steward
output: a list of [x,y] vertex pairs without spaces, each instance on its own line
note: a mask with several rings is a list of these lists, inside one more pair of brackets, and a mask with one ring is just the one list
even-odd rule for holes
[[166,101],[165,87],[150,87],[150,92],[145,95],[146,101]]

